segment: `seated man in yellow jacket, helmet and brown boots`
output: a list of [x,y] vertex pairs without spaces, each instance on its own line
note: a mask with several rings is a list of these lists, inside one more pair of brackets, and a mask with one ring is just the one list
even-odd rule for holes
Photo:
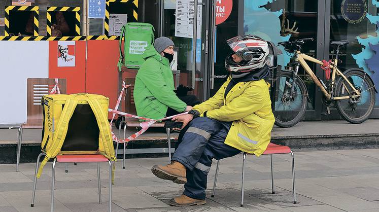
[[158,178],[185,184],[183,195],[171,199],[171,205],[205,204],[213,158],[241,151],[260,156],[270,142],[275,119],[263,79],[269,73],[268,44],[256,36],[238,36],[227,43],[233,50],[225,59],[227,81],[212,98],[173,119],[183,122],[180,144],[170,164],[152,167]]

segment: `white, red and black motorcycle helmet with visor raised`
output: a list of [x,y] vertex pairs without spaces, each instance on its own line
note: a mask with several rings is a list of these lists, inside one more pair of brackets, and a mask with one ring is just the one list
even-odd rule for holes
[[[233,53],[225,59],[225,67],[229,73],[243,74],[263,67],[267,64],[269,47],[265,40],[253,36],[237,36],[226,41]],[[234,62],[233,54],[242,57],[241,62]]]

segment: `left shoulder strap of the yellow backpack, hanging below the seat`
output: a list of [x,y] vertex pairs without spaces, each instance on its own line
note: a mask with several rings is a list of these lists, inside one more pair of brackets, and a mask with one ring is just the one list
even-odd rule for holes
[[55,156],[60,152],[60,149],[62,148],[64,139],[67,134],[68,122],[69,122],[68,120],[70,120],[71,117],[73,116],[74,110],[77,104],[78,104],[78,100],[76,98],[69,97],[66,100],[64,104],[64,108],[62,110],[62,115],[59,119],[56,130],[54,132],[51,145],[46,149],[46,156],[44,160],[41,162],[40,168],[38,169],[37,178],[40,178],[42,170],[44,166],[46,165],[46,163],[51,158],[55,158]]

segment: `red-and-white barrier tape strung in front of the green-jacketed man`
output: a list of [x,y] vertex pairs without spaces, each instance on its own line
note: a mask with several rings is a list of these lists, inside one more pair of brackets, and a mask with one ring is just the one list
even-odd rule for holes
[[[167,120],[167,119],[172,119],[176,116],[181,116],[181,115],[185,115],[185,114],[188,114],[188,112],[186,113],[181,113],[181,114],[178,114],[178,115],[175,115],[175,116],[169,116],[169,117],[165,117],[163,119],[158,119],[158,120],[154,120],[154,119],[150,119],[150,118],[145,118],[145,117],[140,117],[140,116],[135,116],[135,115],[132,115],[132,114],[128,114],[128,113],[125,113],[125,112],[121,112],[121,111],[118,111],[118,107],[120,105],[120,102],[121,102],[121,98],[122,98],[122,94],[124,93],[124,90],[126,88],[128,88],[130,85],[125,85],[125,82],[122,81],[122,89],[121,89],[121,92],[120,92],[120,95],[117,99],[117,102],[116,102],[116,107],[114,110],[112,109],[108,109],[109,112],[113,113],[113,116],[112,116],[112,120],[111,122],[109,123],[110,125],[110,128],[111,128],[111,133],[112,133],[112,139],[117,142],[117,143],[125,143],[125,142],[130,142],[130,140],[134,140],[136,137],[140,136],[142,133],[144,133],[151,125],[153,125],[155,122],[157,121],[163,121],[163,120]],[[140,123],[140,126],[142,127],[142,129],[132,135],[130,135],[129,137],[123,139],[123,140],[120,140],[117,138],[117,136],[115,135],[115,133],[113,133],[113,130],[112,130],[112,122],[116,116],[116,114],[120,115],[120,116],[125,116],[125,117],[131,117],[131,118],[135,118],[135,119],[141,119],[141,120],[145,120],[145,122],[141,122]]]

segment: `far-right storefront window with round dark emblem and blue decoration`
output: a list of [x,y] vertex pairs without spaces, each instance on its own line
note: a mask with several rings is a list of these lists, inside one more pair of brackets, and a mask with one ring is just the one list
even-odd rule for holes
[[[366,0],[332,0],[330,15],[330,40],[348,40],[349,44],[340,50],[338,66],[341,69],[363,69],[379,85],[379,37],[377,34],[379,5]],[[333,47],[330,46],[330,58]],[[376,94],[375,107],[379,108]]]

